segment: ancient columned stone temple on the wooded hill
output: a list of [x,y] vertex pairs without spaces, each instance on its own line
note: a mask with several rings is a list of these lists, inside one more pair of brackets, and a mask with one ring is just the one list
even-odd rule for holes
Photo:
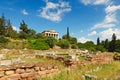
[[44,36],[54,37],[55,39],[58,39],[58,35],[59,35],[59,33],[56,32],[55,30],[45,30],[42,32],[42,34]]

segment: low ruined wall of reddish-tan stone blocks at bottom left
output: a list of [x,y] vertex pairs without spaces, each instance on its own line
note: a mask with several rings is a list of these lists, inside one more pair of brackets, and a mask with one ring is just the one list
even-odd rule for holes
[[58,72],[53,63],[24,63],[0,66],[0,80],[40,80]]

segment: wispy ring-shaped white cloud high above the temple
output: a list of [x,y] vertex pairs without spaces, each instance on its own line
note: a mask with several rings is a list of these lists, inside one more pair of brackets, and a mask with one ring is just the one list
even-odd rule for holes
[[45,1],[46,6],[42,8],[39,16],[51,21],[61,21],[62,15],[71,11],[71,6],[68,2],[59,1],[58,3]]

